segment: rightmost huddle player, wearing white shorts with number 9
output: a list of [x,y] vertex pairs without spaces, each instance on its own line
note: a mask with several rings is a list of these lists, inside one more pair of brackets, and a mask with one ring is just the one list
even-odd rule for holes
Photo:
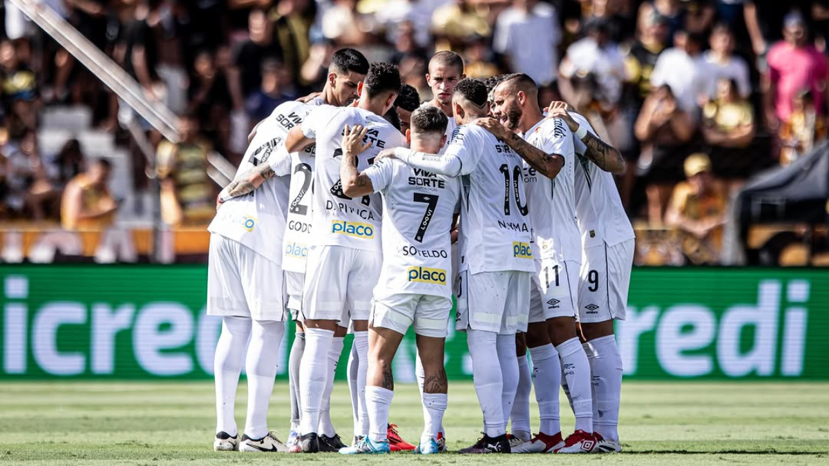
[[620,452],[622,357],[613,337],[613,320],[625,318],[635,235],[610,172],[623,172],[624,158],[596,135],[584,116],[568,112],[565,103],[550,105],[549,116],[563,119],[573,131],[579,161],[574,185],[584,248],[579,323],[593,374],[594,451]]

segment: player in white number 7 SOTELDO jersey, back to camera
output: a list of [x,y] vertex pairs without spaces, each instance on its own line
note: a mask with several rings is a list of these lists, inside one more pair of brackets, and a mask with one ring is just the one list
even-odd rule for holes
[[[446,115],[434,107],[411,115],[407,140],[416,151],[435,153],[444,146]],[[360,133],[358,133],[360,132]],[[366,384],[370,430],[366,439],[342,454],[386,453],[386,434],[394,379],[391,362],[406,330],[414,324],[426,380],[424,431],[417,451],[439,453],[439,428],[446,410],[444,339],[452,309],[450,231],[458,206],[460,182],[412,168],[393,158],[356,171],[356,154],[365,129],[347,130],[341,165],[343,191],[349,196],[380,192],[383,197],[383,267],[374,289],[369,327]]]

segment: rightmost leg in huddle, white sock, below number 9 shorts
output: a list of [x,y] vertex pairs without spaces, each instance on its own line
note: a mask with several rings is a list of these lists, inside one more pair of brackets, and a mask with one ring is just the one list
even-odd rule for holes
[[593,374],[596,449],[603,453],[618,452],[622,450],[618,437],[622,357],[613,336],[613,320],[583,323],[581,328],[589,346],[588,358]]

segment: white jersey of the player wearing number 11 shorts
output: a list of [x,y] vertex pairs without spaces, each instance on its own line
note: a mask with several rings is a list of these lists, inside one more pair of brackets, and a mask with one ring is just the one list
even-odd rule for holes
[[541,119],[524,134],[528,143],[545,153],[558,153],[565,164],[555,178],[525,163],[526,192],[531,206],[534,245],[538,259],[581,261],[581,237],[575,218],[573,187],[575,152],[573,133],[562,119]]

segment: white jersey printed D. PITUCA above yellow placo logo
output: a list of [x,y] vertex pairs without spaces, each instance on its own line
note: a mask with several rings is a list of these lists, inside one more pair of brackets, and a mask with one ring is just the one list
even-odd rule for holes
[[405,146],[400,131],[368,110],[322,105],[308,114],[302,124],[303,133],[317,140],[312,194],[313,244],[379,253],[382,250],[380,194],[351,199],[342,192],[340,182],[343,129],[356,124],[369,128],[366,142],[371,141],[371,148],[358,156],[357,170],[368,168],[381,150]]

